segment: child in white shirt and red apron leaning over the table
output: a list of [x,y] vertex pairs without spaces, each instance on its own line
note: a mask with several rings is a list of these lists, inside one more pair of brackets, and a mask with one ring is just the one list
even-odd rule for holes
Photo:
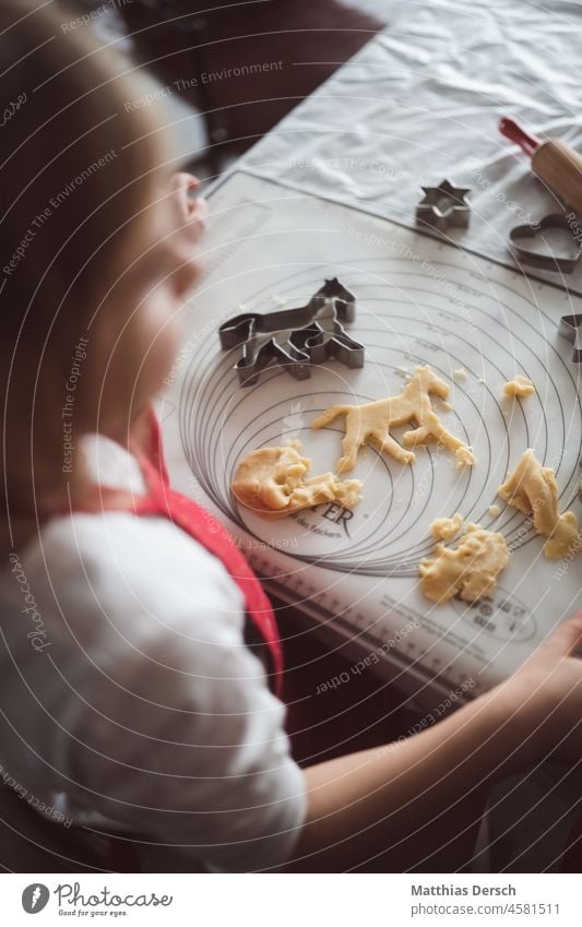
[[143,88],[72,14],[0,11],[3,773],[55,827],[124,835],[135,868],[405,869],[451,822],[456,868],[495,781],[579,756],[582,615],[435,727],[298,768],[269,602],[169,488],[151,413],[195,181],[168,180],[151,109],[124,106]]

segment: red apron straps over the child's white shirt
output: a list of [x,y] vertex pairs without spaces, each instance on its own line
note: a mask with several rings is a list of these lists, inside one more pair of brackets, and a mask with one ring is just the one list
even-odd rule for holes
[[[170,488],[162,450],[159,424],[151,406],[144,413],[140,424],[143,424],[144,433],[140,440],[135,436],[130,440],[129,450],[140,464],[147,488],[146,495],[130,497],[127,492],[98,486],[95,487],[98,496],[94,504],[86,509],[90,511],[115,509],[144,516],[163,515],[170,519],[175,525],[221,560],[245,596],[250,630],[254,631],[256,638],[259,638],[258,644],[261,650],[266,649],[269,666],[265,666],[265,670],[272,688],[277,696],[281,696],[283,650],[271,603],[226,528],[221,527],[219,532],[213,533],[209,527],[209,521],[215,524],[214,516],[192,499]],[[110,504],[107,504],[108,499]],[[85,510],[85,507],[76,508],[76,511],[81,510]]]

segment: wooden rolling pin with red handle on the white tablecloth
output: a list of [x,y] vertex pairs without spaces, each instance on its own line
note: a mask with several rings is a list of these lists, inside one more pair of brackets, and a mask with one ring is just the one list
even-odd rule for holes
[[543,142],[528,135],[513,119],[499,120],[499,131],[532,159],[532,170],[565,205],[582,213],[582,155],[558,139]]

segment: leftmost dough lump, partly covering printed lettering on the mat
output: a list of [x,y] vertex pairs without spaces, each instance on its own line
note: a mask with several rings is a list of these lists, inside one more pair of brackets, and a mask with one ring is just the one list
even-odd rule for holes
[[282,519],[322,502],[353,509],[361,498],[361,480],[337,479],[333,473],[307,477],[311,461],[299,455],[299,441],[260,448],[244,457],[231,489],[239,502],[263,519]]

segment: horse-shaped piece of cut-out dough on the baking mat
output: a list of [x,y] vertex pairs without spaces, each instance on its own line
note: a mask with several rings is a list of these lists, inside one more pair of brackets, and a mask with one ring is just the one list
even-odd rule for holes
[[311,428],[324,428],[338,416],[345,416],[344,453],[337,463],[337,473],[354,470],[364,444],[372,444],[399,463],[414,463],[415,454],[404,450],[390,435],[391,428],[413,421],[417,427],[406,431],[402,439],[406,448],[437,441],[455,452],[458,467],[473,466],[475,456],[466,444],[441,425],[432,408],[431,394],[446,400],[449,387],[429,367],[416,367],[400,395],[363,405],[333,405],[317,416]]

